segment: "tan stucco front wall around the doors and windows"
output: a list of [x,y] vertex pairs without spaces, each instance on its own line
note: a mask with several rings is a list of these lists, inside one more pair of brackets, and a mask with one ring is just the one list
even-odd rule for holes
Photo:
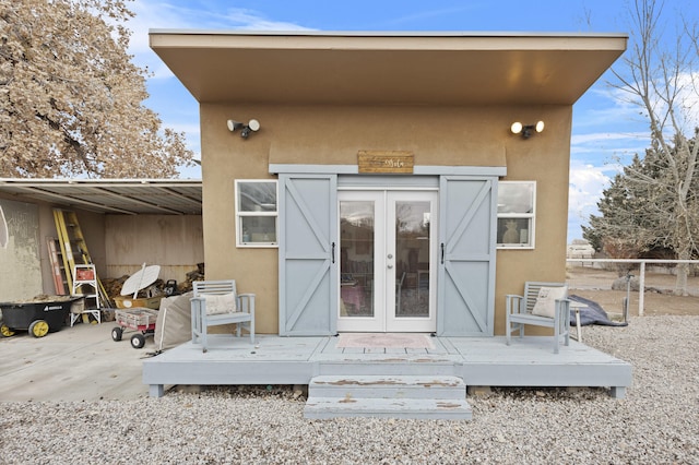
[[[227,119],[261,123],[244,140]],[[544,120],[529,140],[513,121]],[[564,281],[571,108],[201,105],[204,255],[208,278],[230,278],[258,296],[257,330],[279,331],[277,249],[235,247],[234,179],[269,179],[269,164],[356,165],[360,150],[412,151],[415,165],[501,166],[502,180],[535,180],[536,249],[498,251],[496,334],[505,294],[524,281]]]

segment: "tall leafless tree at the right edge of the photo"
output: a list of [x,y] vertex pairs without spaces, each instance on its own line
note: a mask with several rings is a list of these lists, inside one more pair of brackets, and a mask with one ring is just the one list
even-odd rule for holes
[[[626,181],[647,195],[644,213],[654,210],[662,215],[659,220],[666,230],[657,230],[654,240],[674,250],[678,259],[688,260],[699,237],[699,208],[691,190],[699,148],[692,143],[699,140],[692,114],[699,100],[699,34],[696,20],[676,12],[679,27],[668,38],[663,9],[662,0],[628,3],[630,47],[623,67],[613,69],[617,80],[613,85],[648,119],[654,154],[644,158],[644,169],[627,167]],[[686,294],[687,273],[686,264],[678,266],[675,294]]]

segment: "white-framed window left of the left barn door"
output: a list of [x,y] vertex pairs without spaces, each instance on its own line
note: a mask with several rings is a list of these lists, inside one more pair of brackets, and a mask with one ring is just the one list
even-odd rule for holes
[[276,247],[275,180],[236,180],[236,245]]

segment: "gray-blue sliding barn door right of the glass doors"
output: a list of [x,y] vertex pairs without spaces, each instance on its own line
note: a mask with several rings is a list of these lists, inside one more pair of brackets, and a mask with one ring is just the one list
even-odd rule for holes
[[491,336],[497,178],[442,176],[437,334]]

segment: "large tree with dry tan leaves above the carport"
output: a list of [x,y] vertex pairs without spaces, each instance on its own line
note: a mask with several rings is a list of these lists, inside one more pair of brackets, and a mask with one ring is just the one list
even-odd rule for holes
[[131,0],[0,0],[0,177],[168,178],[183,134],[143,105]]

